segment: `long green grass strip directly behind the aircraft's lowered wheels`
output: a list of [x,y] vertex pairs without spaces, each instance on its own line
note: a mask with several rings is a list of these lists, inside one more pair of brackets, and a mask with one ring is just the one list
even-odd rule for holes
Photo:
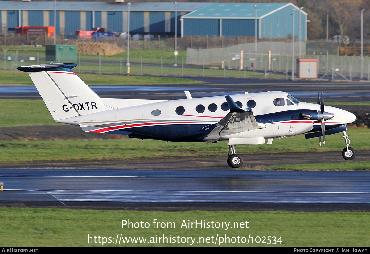
[[[370,148],[369,134],[369,129],[350,129],[351,146],[356,150],[368,150]],[[344,148],[344,140],[340,133],[327,136],[325,146],[320,147],[318,143],[316,138],[305,140],[305,137],[300,135],[274,140],[270,145],[238,146],[236,149],[238,154],[338,151],[340,157]],[[226,148],[226,141],[220,141],[216,144],[204,144],[202,142],[166,143],[159,140],[141,141],[140,139],[131,138],[119,140],[1,141],[0,160],[20,163],[162,156],[225,155],[226,157]]]

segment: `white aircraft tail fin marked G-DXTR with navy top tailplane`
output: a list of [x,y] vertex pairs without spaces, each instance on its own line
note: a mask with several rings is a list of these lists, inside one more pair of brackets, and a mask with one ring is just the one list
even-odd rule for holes
[[105,111],[99,96],[71,69],[74,63],[50,63],[21,66],[44,100],[54,120]]

